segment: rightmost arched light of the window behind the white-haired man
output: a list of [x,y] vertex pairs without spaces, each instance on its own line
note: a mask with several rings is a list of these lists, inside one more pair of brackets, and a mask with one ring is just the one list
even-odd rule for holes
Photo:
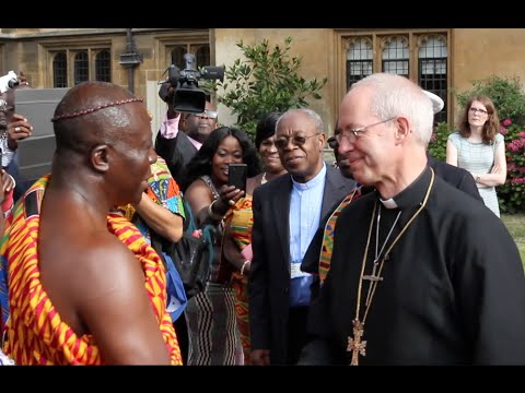
[[436,95],[444,102],[443,109],[435,115],[435,122],[446,121],[447,115],[447,49],[443,35],[421,37],[418,58],[419,85]]

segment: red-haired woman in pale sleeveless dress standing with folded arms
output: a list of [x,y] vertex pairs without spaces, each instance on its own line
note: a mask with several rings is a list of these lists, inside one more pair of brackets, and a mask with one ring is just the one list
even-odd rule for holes
[[485,204],[500,216],[495,187],[505,183],[505,143],[492,100],[483,95],[470,98],[458,124],[448,135],[446,163],[467,169],[476,180]]

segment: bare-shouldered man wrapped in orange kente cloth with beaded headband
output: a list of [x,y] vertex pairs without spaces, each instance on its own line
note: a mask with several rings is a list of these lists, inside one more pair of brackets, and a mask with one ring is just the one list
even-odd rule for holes
[[152,148],[142,100],[104,82],[72,87],[52,118],[51,172],[14,209],[4,352],[18,365],[180,365],[159,255],[127,219]]

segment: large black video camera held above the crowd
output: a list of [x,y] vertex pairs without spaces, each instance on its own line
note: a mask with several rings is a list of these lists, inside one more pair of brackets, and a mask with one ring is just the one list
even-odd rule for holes
[[[178,112],[202,114],[206,108],[206,92],[199,88],[199,79],[220,80],[224,79],[224,67],[202,67],[200,70],[195,68],[195,56],[184,55],[186,68],[180,70],[171,64],[167,69],[167,82],[163,83],[159,90],[159,96],[165,103],[173,99],[173,109]],[[174,88],[173,97],[168,94],[170,87]]]

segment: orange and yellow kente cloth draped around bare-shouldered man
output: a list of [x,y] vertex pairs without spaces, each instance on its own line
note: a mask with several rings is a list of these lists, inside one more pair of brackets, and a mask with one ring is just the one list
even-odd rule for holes
[[[4,352],[18,365],[101,365],[91,334],[78,336],[54,308],[40,283],[38,267],[39,207],[49,175],[40,178],[14,207],[0,253],[9,261],[8,341]],[[36,199],[35,199],[36,196]],[[28,201],[36,203],[27,204]],[[166,309],[166,277],[155,251],[139,230],[118,214],[107,216],[107,228],[136,255],[144,272],[144,287],[159,321],[173,365],[182,365],[180,350]],[[110,321],[108,321],[110,323]],[[140,354],[137,354],[140,359]]]

